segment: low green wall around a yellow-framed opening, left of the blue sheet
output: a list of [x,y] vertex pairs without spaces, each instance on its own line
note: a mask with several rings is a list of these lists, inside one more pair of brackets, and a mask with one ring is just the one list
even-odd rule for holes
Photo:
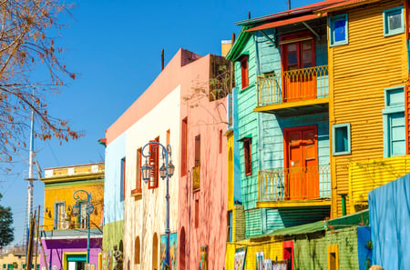
[[359,269],[357,227],[326,231],[317,238],[310,236],[303,235],[293,241],[294,269],[327,270],[327,245],[334,244],[339,246],[339,269]]

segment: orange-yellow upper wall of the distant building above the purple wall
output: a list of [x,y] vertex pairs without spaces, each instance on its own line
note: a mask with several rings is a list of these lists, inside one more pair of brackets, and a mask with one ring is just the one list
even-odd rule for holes
[[[76,200],[73,198],[74,192],[78,189],[84,189],[88,193],[92,193],[92,203],[94,205],[94,212],[90,215],[91,227],[96,227],[96,225],[101,224],[101,215],[104,208],[104,181],[103,179],[99,180],[87,180],[87,181],[72,181],[66,183],[58,183],[45,186],[45,199],[44,205],[45,210],[48,212],[44,213],[44,230],[53,230],[54,220],[55,220],[55,203],[56,202],[65,202],[66,210],[69,206],[69,209],[72,211],[73,205],[76,204]],[[87,195],[83,193],[78,193],[80,198],[87,199]],[[67,213],[71,213],[67,211]],[[73,224],[77,222],[77,217],[71,215],[70,223]]]

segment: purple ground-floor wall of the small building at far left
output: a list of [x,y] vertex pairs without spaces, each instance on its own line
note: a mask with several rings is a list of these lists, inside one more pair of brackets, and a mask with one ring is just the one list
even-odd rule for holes
[[[48,270],[54,270],[53,265],[56,265],[56,270],[63,269],[63,254],[66,252],[84,252],[87,253],[87,238],[86,239],[57,239],[57,240],[42,240],[44,252],[46,253],[46,261]],[[101,253],[102,238],[91,238],[89,243],[89,263],[96,265],[98,269],[98,254]],[[45,266],[44,255],[41,253],[40,269]]]

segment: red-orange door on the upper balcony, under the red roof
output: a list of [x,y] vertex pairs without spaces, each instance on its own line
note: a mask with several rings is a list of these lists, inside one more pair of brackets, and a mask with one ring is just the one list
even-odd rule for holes
[[316,98],[313,39],[282,45],[283,102]]

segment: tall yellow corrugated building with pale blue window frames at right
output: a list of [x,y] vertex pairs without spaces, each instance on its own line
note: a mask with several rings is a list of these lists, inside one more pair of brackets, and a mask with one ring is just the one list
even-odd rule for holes
[[344,1],[327,13],[332,217],[367,207],[367,193],[405,175],[406,1]]

